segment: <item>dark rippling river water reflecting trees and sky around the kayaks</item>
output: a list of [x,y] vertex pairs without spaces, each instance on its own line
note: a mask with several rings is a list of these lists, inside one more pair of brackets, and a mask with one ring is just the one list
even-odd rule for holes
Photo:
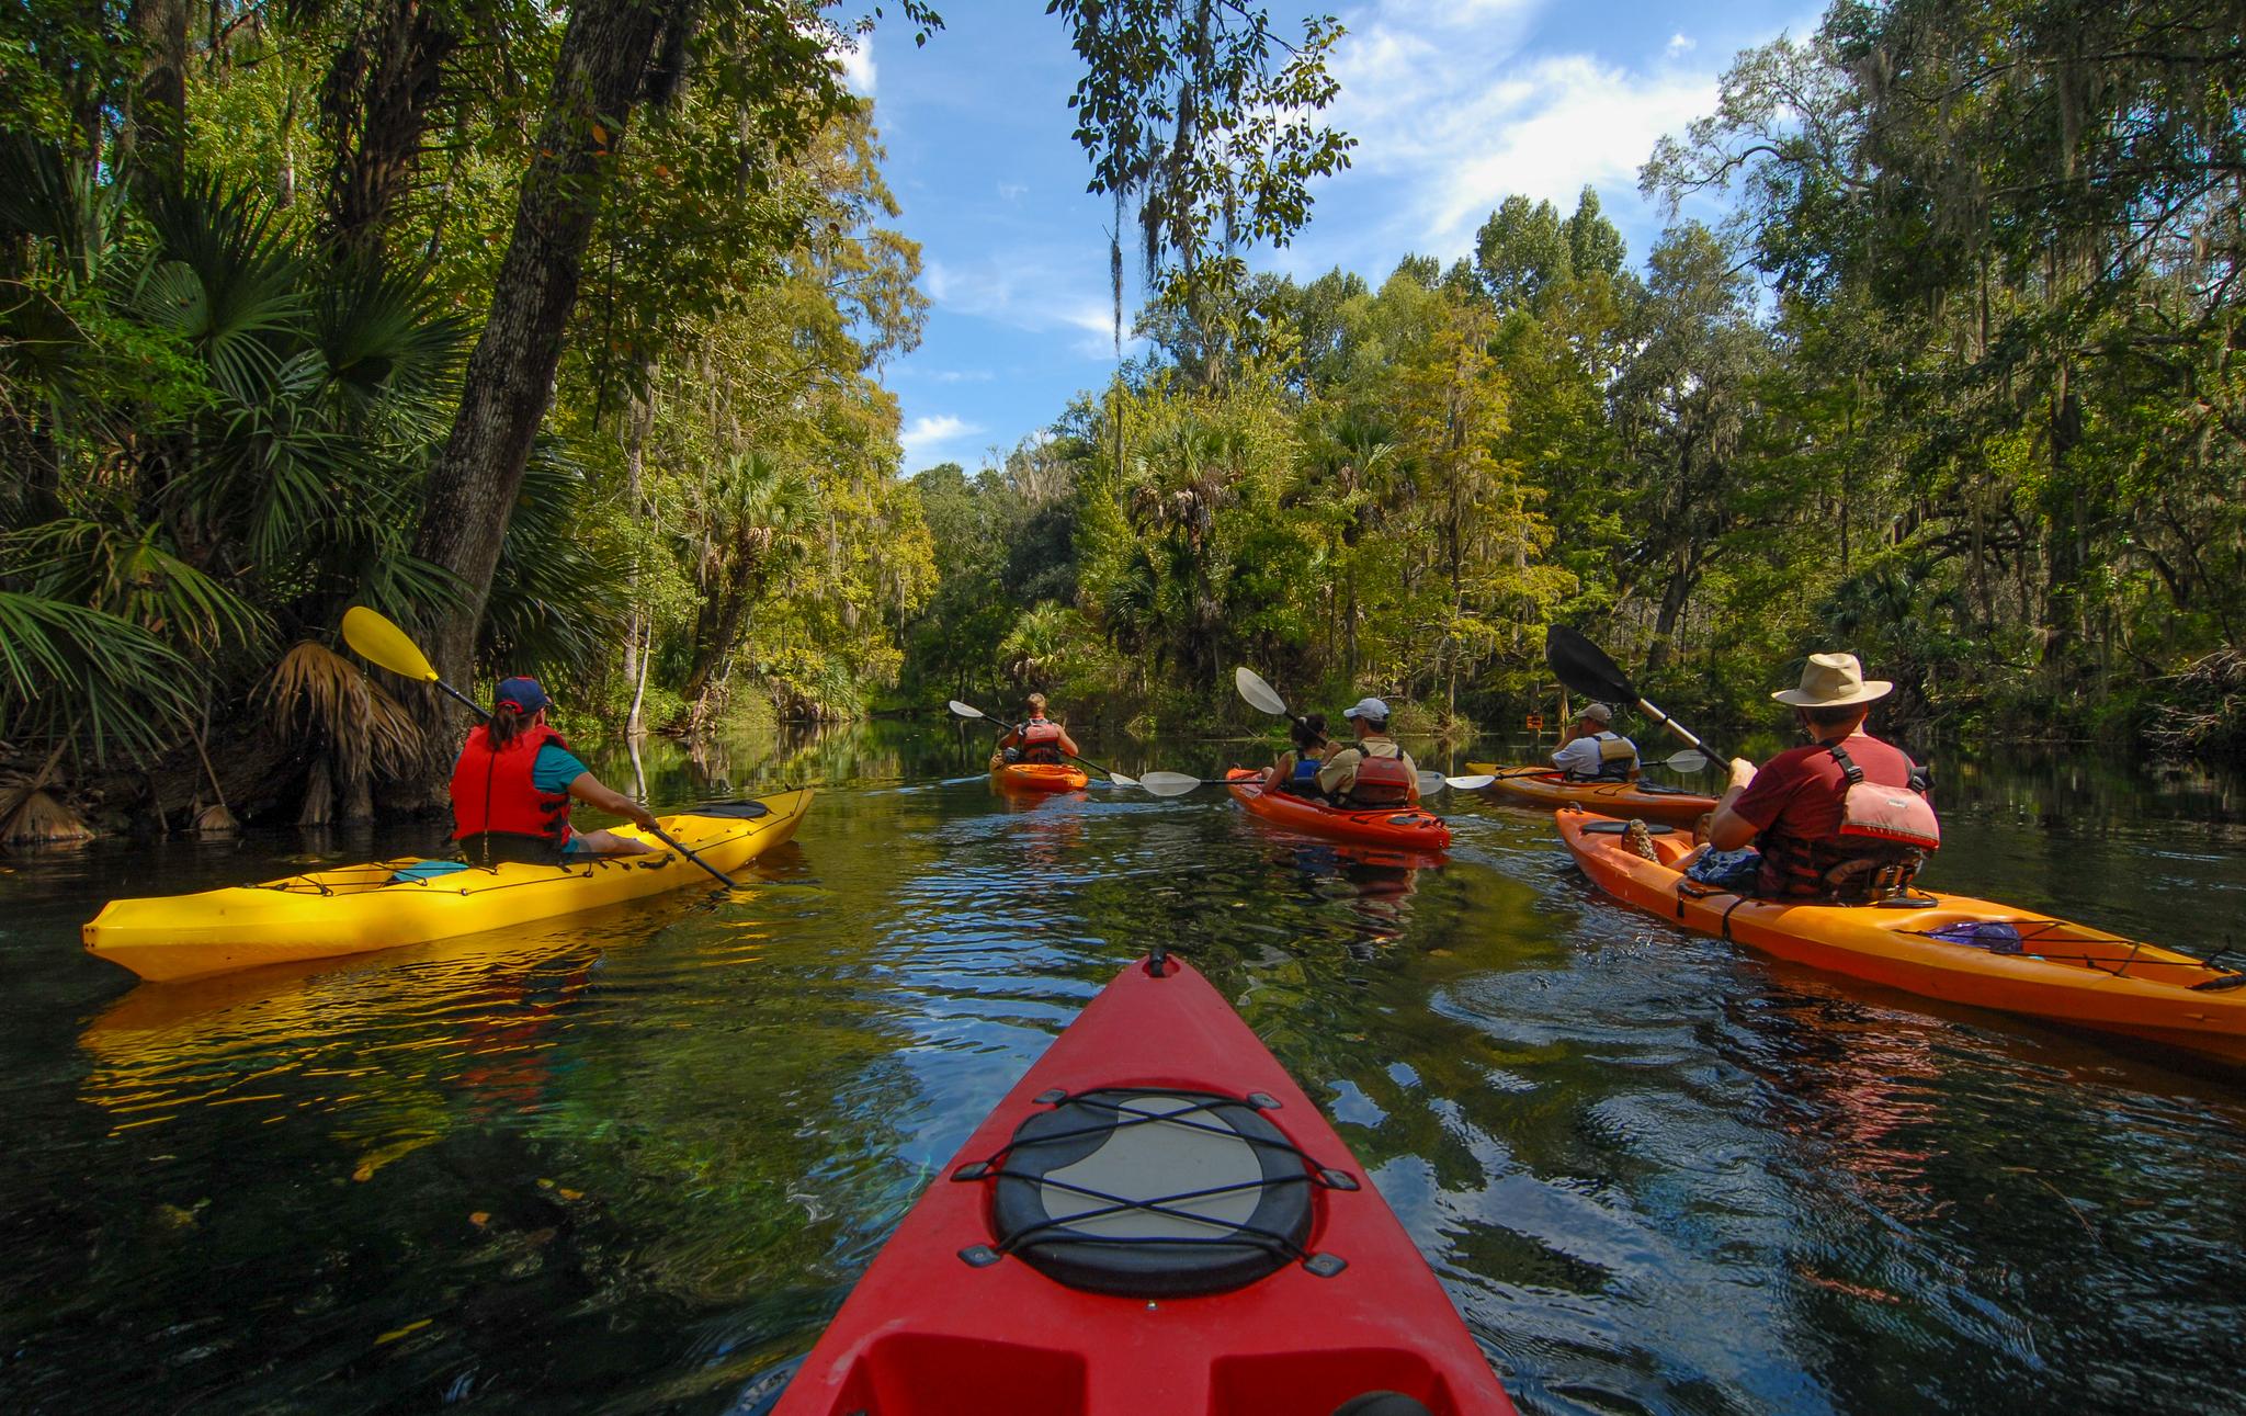
[[[1525,1409],[2246,1409],[2246,1077],[1676,933],[1480,798],[1413,872],[1213,789],[1022,809],[979,757],[934,724],[654,744],[658,802],[824,791],[734,897],[186,987],[79,924],[429,832],[0,856],[0,1409],[721,1412],[1154,940]],[[1927,883],[2242,933],[2237,782],[1981,762],[1941,805]]]

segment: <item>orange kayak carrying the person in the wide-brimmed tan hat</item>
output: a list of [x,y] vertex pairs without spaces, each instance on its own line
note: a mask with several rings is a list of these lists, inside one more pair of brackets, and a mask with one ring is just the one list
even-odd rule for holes
[[[1687,836],[1651,827],[1660,861],[1619,820],[1556,814],[1599,890],[1768,955],[1945,1002],[2120,1032],[2246,1063],[2246,973],[1967,895],[1927,906],[1815,906],[1738,897],[1684,879]],[[1702,892],[1705,890],[1705,892]]]

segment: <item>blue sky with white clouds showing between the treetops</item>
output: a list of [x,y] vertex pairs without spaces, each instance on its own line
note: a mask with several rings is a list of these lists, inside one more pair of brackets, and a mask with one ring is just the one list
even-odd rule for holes
[[[975,468],[1047,427],[1114,371],[1112,207],[1085,191],[1069,137],[1078,63],[1038,0],[939,2],[923,49],[878,29],[849,63],[887,144],[898,227],[921,243],[932,308],[921,346],[883,382],[903,407],[905,472]],[[1563,214],[1586,184],[1640,263],[1660,211],[1637,166],[1662,133],[1714,108],[1732,56],[1806,36],[1819,4],[1565,4],[1372,0],[1336,13],[1334,121],[1354,166],[1316,187],[1309,227],[1267,270],[1384,279],[1406,254],[1444,261],[1507,193]],[[1291,13],[1273,7],[1276,16]],[[1127,272],[1127,279],[1136,272]],[[1130,301],[1130,290],[1125,301]]]

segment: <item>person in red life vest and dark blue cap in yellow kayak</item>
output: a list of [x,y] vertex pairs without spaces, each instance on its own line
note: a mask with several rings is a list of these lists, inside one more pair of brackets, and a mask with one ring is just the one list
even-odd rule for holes
[[546,724],[553,699],[537,679],[505,679],[492,717],[467,733],[451,766],[451,838],[472,865],[503,861],[553,865],[566,856],[636,856],[654,850],[615,832],[570,827],[573,802],[611,811],[642,829],[656,816],[602,787],[577,753]]

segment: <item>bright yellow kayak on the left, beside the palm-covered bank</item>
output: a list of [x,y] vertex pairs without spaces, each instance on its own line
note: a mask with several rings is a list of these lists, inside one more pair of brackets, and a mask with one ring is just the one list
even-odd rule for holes
[[[761,811],[739,814],[748,805]],[[728,802],[723,811],[734,814],[683,811],[660,820],[683,847],[730,872],[795,836],[809,809],[811,791],[804,789]],[[611,829],[656,845],[638,827]],[[112,899],[79,935],[85,953],[171,982],[472,935],[714,883],[694,861],[663,845],[645,856],[568,865],[483,868],[407,856],[202,895]]]

